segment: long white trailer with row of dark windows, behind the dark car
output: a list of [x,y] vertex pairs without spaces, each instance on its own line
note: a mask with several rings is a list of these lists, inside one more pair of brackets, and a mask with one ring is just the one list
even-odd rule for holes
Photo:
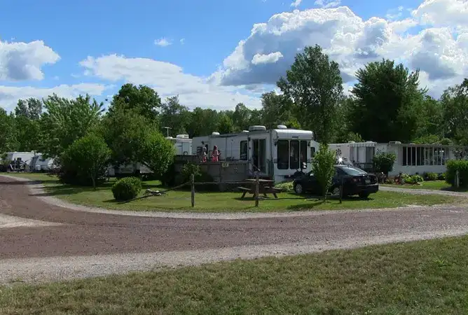
[[390,176],[404,174],[424,174],[446,172],[448,160],[468,159],[468,147],[446,146],[441,144],[401,144],[400,141],[390,141],[378,144],[373,141],[354,142],[347,144],[330,144],[329,149],[336,155],[346,158],[353,165],[371,171],[373,156],[379,152],[394,153],[397,156]]

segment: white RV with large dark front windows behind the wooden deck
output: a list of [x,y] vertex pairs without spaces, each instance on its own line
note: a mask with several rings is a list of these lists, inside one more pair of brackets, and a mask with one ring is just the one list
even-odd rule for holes
[[287,129],[278,125],[277,129],[266,130],[265,126],[251,126],[237,134],[219,134],[193,138],[193,155],[201,155],[207,149],[208,160],[217,146],[221,161],[247,160],[254,174],[270,177],[275,183],[287,180],[301,164],[306,163],[304,172],[310,171],[310,161],[318,150],[318,143],[309,130]]

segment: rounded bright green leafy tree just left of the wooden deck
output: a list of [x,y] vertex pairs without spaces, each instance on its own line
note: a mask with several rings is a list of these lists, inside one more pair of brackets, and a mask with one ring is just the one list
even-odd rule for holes
[[138,162],[151,169],[156,176],[163,176],[174,161],[175,148],[163,134],[153,131],[145,135],[138,155]]

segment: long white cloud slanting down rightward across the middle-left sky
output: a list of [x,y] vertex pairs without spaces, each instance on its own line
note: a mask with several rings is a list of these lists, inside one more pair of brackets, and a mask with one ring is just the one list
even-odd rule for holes
[[182,104],[194,108],[232,109],[242,102],[260,106],[258,95],[242,92],[241,87],[221,87],[216,80],[184,73],[180,66],[148,58],[127,58],[121,55],[88,57],[80,62],[85,75],[112,82],[124,81],[153,87],[162,97],[179,94]]

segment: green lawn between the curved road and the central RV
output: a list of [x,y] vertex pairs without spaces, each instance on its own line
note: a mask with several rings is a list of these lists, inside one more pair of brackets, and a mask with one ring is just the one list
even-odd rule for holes
[[[58,197],[76,204],[102,207],[106,209],[132,211],[194,211],[194,212],[226,212],[226,211],[298,211],[339,210],[339,209],[377,209],[391,207],[405,207],[407,205],[432,205],[464,202],[462,198],[443,195],[411,195],[380,191],[369,196],[368,200],[351,197],[340,204],[333,199],[323,203],[315,198],[304,198],[291,193],[280,193],[278,199],[268,198],[260,200],[259,207],[251,197],[241,200],[241,193],[196,193],[195,207],[191,208],[191,194],[189,191],[171,191],[167,195],[148,197],[128,203],[118,203],[113,200],[111,185],[113,181],[104,184],[97,190],[92,188],[61,185],[55,177],[46,174],[16,174],[46,183],[47,195]],[[144,188],[160,189],[157,181],[146,181]],[[143,194],[143,193],[142,193]],[[247,195],[248,196],[248,195]]]

